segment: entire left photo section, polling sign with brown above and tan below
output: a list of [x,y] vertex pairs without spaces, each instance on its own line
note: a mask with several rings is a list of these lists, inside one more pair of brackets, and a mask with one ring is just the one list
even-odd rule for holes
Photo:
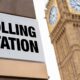
[[47,80],[32,0],[1,0],[0,6],[0,80]]

